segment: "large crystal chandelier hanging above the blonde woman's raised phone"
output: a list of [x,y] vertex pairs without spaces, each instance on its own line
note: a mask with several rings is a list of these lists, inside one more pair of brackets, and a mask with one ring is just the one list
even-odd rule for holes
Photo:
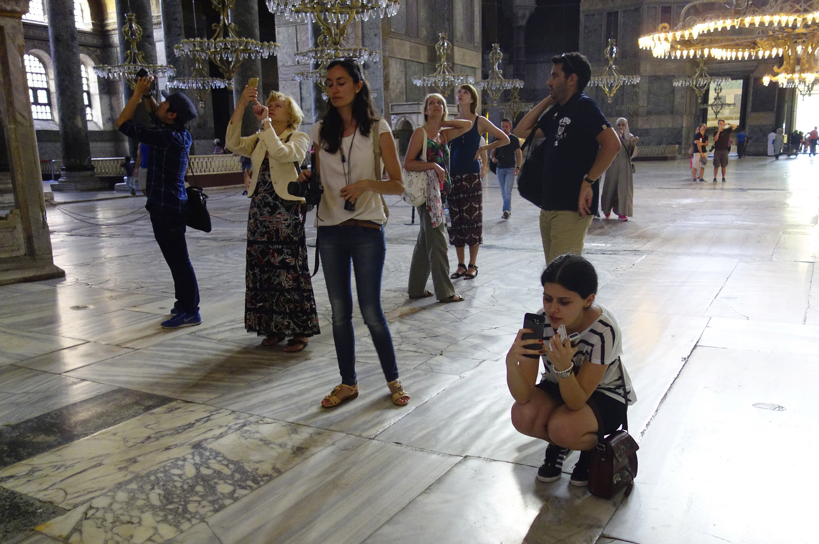
[[[259,42],[251,38],[239,38],[237,26],[230,22],[230,10],[234,0],[210,0],[219,12],[219,23],[212,38],[183,39],[174,46],[178,56],[189,56],[193,59],[210,60],[228,80],[227,87],[233,88],[233,74],[239,65],[248,58],[267,58],[275,55],[278,43]],[[189,82],[192,83],[192,82]]]

